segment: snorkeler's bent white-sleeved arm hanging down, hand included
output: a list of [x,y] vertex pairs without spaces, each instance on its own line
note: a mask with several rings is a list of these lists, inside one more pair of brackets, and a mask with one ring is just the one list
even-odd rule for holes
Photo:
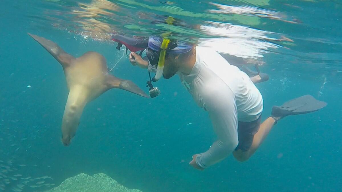
[[202,102],[209,113],[218,140],[207,152],[196,156],[196,163],[202,168],[222,161],[238,145],[238,121],[234,93],[228,87],[222,89],[213,87],[206,92]]

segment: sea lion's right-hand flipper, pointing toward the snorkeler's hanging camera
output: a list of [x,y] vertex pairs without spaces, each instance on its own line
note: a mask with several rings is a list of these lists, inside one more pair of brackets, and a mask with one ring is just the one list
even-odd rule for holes
[[109,75],[109,74],[107,75],[106,80],[107,80],[108,89],[120,88],[122,90],[126,90],[126,91],[129,91],[131,93],[134,93],[134,94],[148,98],[146,93],[143,90],[141,90],[141,88],[139,88],[132,81],[120,79],[120,78],[114,77],[114,76]]

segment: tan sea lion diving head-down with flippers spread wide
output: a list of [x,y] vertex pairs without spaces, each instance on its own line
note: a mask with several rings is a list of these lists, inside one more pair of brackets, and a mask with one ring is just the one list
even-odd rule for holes
[[75,58],[56,43],[28,33],[62,65],[69,96],[62,120],[62,142],[70,145],[75,136],[84,106],[111,88],[120,88],[148,98],[132,81],[108,74],[106,59],[99,53],[89,51]]

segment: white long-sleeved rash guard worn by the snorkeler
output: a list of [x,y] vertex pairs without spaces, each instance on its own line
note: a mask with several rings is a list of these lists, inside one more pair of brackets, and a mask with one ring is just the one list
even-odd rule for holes
[[[155,71],[151,66],[148,69]],[[196,163],[206,168],[237,147],[238,121],[257,120],[263,110],[263,99],[246,73],[210,48],[197,46],[190,74],[178,74],[196,103],[209,113],[218,136],[208,151],[196,157]]]

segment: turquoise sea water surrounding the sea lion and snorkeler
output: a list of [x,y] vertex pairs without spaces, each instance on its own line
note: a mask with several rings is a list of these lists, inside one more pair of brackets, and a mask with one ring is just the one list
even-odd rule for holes
[[[339,1],[215,1],[242,10],[259,7],[253,14],[227,13],[209,1],[111,2],[0,3],[0,164],[17,169],[13,174],[19,177],[53,178],[45,181],[49,186],[25,186],[23,191],[44,191],[79,173],[105,173],[143,192],[342,191]],[[171,15],[188,26],[153,25],[152,14]],[[207,113],[173,77],[156,83],[162,94],[153,99],[117,89],[104,93],[86,106],[71,145],[63,146],[60,127],[68,95],[64,73],[27,32],[51,39],[75,56],[101,53],[113,75],[147,92],[147,72],[131,66],[124,50],[100,35],[120,31],[146,37],[171,30],[172,37],[183,40],[220,37],[191,27],[214,26],[208,21],[247,28],[227,34],[236,41],[226,46],[258,45],[254,50],[263,57],[242,56],[262,62],[261,71],[270,76],[257,85],[264,98],[263,119],[273,105],[304,94],[328,106],[279,121],[249,161],[239,163],[229,156],[199,172],[188,162],[207,150],[215,135]],[[238,36],[256,33],[249,29],[267,38]],[[271,39],[282,37],[291,41]],[[11,180],[4,191],[20,181]]]

